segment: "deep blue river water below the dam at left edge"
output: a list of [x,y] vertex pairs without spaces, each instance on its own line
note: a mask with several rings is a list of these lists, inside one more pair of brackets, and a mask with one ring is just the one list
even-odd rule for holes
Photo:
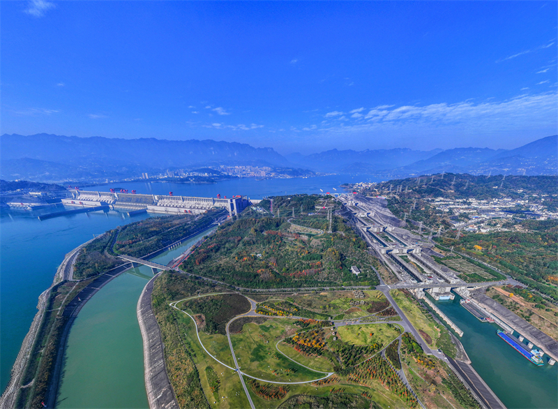
[[129,218],[116,211],[75,214],[38,221],[31,211],[0,213],[0,389],[29,325],[38,296],[47,289],[64,255],[84,241],[148,215]]

